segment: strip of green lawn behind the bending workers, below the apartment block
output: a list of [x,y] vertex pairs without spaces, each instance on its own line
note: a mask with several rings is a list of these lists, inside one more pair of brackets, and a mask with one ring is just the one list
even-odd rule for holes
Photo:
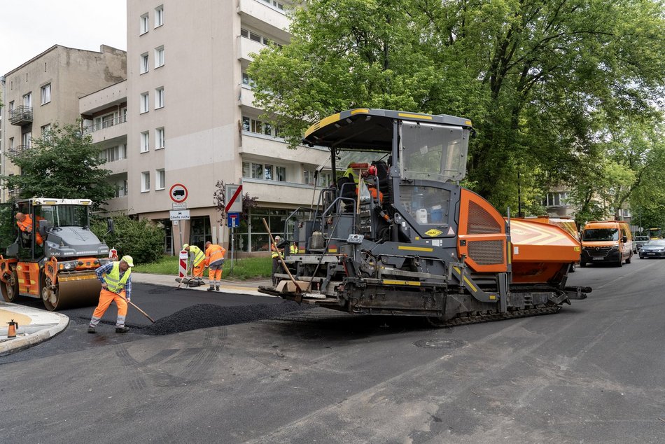
[[[178,275],[178,256],[162,256],[160,261],[146,264],[137,264],[132,271],[139,273],[152,273],[153,275]],[[244,281],[247,279],[257,279],[261,277],[270,277],[272,272],[272,259],[267,258],[244,258],[234,259],[233,269],[231,261],[224,263],[222,279],[234,279]],[[203,273],[208,276],[208,270]]]

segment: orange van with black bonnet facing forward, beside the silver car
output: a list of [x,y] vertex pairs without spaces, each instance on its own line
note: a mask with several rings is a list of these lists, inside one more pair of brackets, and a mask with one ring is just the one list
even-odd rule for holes
[[631,263],[633,237],[623,221],[591,221],[582,231],[580,266],[587,263],[614,263],[621,267]]

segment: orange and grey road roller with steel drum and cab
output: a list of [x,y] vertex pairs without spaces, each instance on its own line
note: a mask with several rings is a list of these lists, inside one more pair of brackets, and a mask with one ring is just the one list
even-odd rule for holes
[[48,310],[93,305],[94,270],[109,247],[90,230],[88,199],[27,199],[0,209],[0,290],[4,300],[41,298]]

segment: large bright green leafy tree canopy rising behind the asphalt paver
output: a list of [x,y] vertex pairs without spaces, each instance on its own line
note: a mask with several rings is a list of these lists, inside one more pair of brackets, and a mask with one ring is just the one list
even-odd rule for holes
[[[659,0],[303,3],[290,44],[262,50],[248,69],[258,106],[292,145],[354,107],[465,116],[478,134],[469,183],[516,208],[519,171],[535,208],[554,183],[623,171],[602,139],[611,123],[661,119]],[[617,180],[630,187],[638,176]]]

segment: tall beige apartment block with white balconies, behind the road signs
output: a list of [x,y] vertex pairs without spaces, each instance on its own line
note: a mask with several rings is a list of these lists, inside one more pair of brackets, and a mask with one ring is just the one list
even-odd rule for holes
[[[126,168],[127,191],[113,207],[127,202],[129,214],[162,223],[167,251],[169,240],[180,248],[181,233],[183,242],[201,247],[207,240],[228,240],[214,207],[218,181],[241,181],[245,193],[258,197],[248,223],[236,230],[241,251],[267,250],[262,218],[272,232],[281,232],[290,211],[311,204],[314,169],[328,152],[289,150],[279,129],[260,120],[245,74],[251,53],[271,42],[288,43],[286,8],[276,0],[127,2],[126,104],[109,97],[111,106],[82,110],[102,127],[103,113],[109,122],[125,116],[126,141],[107,139],[104,146],[126,149],[118,149],[126,160],[109,162],[118,164],[118,183]],[[169,192],[176,184],[187,190],[183,203],[191,217],[177,225],[169,220]]]

